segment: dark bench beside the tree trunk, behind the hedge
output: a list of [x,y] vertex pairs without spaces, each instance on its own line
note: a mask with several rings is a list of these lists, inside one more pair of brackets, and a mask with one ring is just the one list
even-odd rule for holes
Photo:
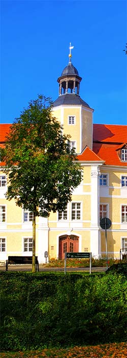
[[[38,256],[36,258],[36,269],[39,271]],[[26,265],[32,264],[32,256],[9,256],[6,260],[6,271],[8,271],[8,264]]]

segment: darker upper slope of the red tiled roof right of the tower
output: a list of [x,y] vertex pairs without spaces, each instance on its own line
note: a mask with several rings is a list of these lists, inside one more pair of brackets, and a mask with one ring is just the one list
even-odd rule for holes
[[93,124],[93,142],[127,142],[127,126],[113,124]]

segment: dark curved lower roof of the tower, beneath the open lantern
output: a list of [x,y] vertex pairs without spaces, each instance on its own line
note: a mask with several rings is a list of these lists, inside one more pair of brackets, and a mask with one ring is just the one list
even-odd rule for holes
[[89,105],[83,101],[83,99],[74,94],[74,93],[66,93],[63,95],[60,95],[54,102],[53,102],[53,106],[57,107],[58,105],[61,104],[70,104],[70,105],[84,105],[85,107],[89,107]]

